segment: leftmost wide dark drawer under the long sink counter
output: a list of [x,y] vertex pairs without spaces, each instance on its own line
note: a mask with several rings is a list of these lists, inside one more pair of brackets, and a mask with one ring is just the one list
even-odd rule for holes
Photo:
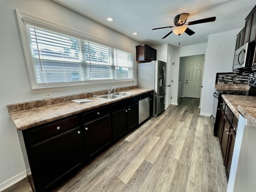
[[29,144],[34,144],[78,126],[78,116],[72,116],[35,129],[25,130],[23,134]]

